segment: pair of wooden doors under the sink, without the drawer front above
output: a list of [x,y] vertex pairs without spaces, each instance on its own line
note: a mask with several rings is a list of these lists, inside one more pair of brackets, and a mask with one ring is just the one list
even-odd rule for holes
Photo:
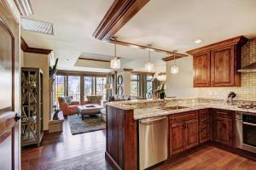
[[174,122],[170,125],[170,155],[198,144],[198,119]]

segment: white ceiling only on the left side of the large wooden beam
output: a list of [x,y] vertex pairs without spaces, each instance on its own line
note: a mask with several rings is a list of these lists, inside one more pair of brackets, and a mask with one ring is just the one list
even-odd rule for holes
[[[102,42],[92,37],[99,22],[113,0],[33,0],[34,13],[28,18],[48,21],[55,26],[55,35],[49,36],[31,31],[21,31],[21,36],[30,47],[53,49],[55,56],[59,57],[58,68],[73,71],[111,71],[101,67],[75,66],[79,56],[92,54],[95,59],[110,59],[113,56],[113,43]],[[147,51],[138,48],[128,48],[117,45],[117,54],[121,57],[122,64],[134,59],[147,60]],[[152,52],[152,61],[163,63],[161,58],[166,54]],[[68,60],[67,60],[68,59]],[[142,65],[130,68],[142,70]]]

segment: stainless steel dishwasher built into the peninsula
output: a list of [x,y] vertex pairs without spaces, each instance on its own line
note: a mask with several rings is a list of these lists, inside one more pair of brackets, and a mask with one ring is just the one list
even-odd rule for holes
[[140,170],[165,161],[168,155],[168,118],[158,116],[139,121]]

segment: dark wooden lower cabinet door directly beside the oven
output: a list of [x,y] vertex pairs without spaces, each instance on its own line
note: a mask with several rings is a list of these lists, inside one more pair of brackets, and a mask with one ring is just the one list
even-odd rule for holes
[[221,144],[232,146],[233,123],[232,119],[213,116],[212,118],[213,136],[212,140]]

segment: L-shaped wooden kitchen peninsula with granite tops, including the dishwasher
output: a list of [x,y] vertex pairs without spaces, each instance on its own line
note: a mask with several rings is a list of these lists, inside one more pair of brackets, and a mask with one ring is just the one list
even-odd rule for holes
[[[106,159],[115,169],[134,170],[154,166],[206,142],[241,150],[236,118],[242,112],[256,115],[256,110],[238,105],[218,99],[108,103]],[[253,152],[245,151],[256,158]]]

